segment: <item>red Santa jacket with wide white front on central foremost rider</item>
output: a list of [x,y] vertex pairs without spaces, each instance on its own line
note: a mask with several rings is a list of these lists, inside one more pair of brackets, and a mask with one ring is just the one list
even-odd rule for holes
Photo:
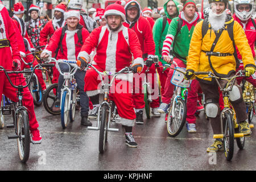
[[141,44],[136,33],[130,28],[121,26],[114,32],[108,26],[94,29],[82,46],[79,57],[88,60],[90,52],[95,47],[97,49],[94,62],[102,70],[118,72],[129,67],[132,56],[133,64],[143,65]]

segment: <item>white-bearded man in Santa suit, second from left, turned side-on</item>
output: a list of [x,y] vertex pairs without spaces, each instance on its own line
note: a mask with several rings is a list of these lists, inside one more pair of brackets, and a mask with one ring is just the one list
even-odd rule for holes
[[[15,22],[16,26],[19,28],[20,34],[23,36],[24,45],[26,48],[26,52],[24,52],[24,54],[22,54],[22,57],[26,57],[25,61],[27,61],[27,63],[30,63],[33,61],[34,56],[33,55],[26,56],[26,54],[31,53],[31,51],[35,51],[35,48],[27,34],[26,26],[25,26],[24,20],[22,19],[23,15],[24,15],[24,7],[21,2],[14,4],[13,13],[14,13],[14,15],[13,15],[14,22]],[[38,64],[38,61],[36,61],[36,59],[35,59],[33,65],[35,66],[37,64]],[[21,69],[23,70],[24,68],[29,68],[29,66],[22,63]],[[35,75],[38,77],[38,81],[39,81],[39,83],[42,87],[42,90],[44,92],[46,90],[46,83],[44,82],[42,71],[40,69],[36,69]]]

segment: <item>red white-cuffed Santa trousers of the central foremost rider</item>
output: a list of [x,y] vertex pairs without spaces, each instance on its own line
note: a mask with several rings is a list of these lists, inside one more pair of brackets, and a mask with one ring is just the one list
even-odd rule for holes
[[[97,67],[96,65],[94,66]],[[98,73],[94,69],[86,71],[84,81],[84,89],[88,97],[100,93],[101,80],[98,78]],[[125,126],[134,126],[136,115],[131,99],[131,82],[115,79],[110,89],[109,98],[114,101],[118,114],[121,117],[117,123]]]

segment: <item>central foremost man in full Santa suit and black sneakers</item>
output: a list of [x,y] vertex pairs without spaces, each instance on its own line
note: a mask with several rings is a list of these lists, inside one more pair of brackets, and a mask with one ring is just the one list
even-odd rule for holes
[[[121,6],[121,2],[118,1],[106,7],[104,16],[107,25],[93,30],[89,38],[86,39],[84,46],[82,46],[78,56],[81,68],[86,67],[90,52],[97,47],[93,65],[101,71],[118,72],[125,67],[129,67],[133,56],[133,71],[135,73],[141,72],[143,68],[141,45],[136,33],[122,24],[125,21],[125,9]],[[97,116],[99,107],[100,89],[98,85],[101,83],[101,80],[98,80],[97,77],[98,74],[94,69],[86,71],[85,91],[94,106],[91,115],[95,114],[95,116]],[[131,97],[132,82],[133,73],[119,74],[113,83],[112,90],[110,89],[110,98],[115,102],[118,114],[121,117],[116,122],[125,127],[127,146],[137,147],[132,133],[136,118]],[[121,92],[117,88],[117,85],[120,84],[123,88]]]

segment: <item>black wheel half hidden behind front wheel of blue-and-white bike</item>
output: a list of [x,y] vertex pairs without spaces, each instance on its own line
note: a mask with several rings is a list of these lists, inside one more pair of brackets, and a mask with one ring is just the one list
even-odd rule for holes
[[60,110],[58,111],[53,111],[53,107],[54,107],[54,102],[57,100],[56,97],[56,93],[57,93],[57,89],[58,89],[58,84],[52,84],[51,86],[49,86],[46,89],[46,92],[44,93],[44,97],[43,97],[43,105],[44,108],[46,109],[46,111],[49,114],[52,115],[59,115],[60,114]]

